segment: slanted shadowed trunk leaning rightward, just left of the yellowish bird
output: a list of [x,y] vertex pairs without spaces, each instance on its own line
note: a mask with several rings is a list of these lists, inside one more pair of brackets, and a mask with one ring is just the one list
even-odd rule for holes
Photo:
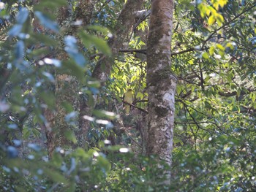
[[[112,50],[111,57],[103,55],[99,58],[97,65],[94,68],[92,77],[96,80],[99,80],[102,85],[105,85],[105,82],[108,81],[108,75],[114,64],[114,60],[118,55],[118,51],[125,47],[125,43],[128,42],[129,33],[131,32],[132,26],[135,24],[136,12],[141,9],[143,0],[128,0],[124,5],[124,8],[121,10],[120,15],[114,30],[114,36],[109,40],[108,45]],[[86,102],[83,101],[80,105],[80,126],[83,127],[82,133],[83,137],[86,137],[89,131],[89,120],[83,119],[83,115],[91,115],[91,111],[94,110],[94,107],[86,105]]]

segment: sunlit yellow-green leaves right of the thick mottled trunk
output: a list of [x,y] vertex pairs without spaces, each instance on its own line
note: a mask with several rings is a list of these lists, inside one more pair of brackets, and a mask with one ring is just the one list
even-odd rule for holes
[[[212,182],[211,184],[213,185],[205,183],[206,185],[204,185],[204,187],[202,185],[201,187],[205,189],[207,188],[209,191],[215,191],[213,189],[214,186],[216,188],[222,188],[222,190],[236,191],[237,189],[240,191],[241,188],[243,188],[241,187],[243,184],[238,184],[238,180],[240,180],[241,177],[243,177],[243,180],[246,180],[246,173],[244,172],[246,166],[241,168],[241,164],[238,163],[238,161],[244,162],[244,160],[242,160],[244,158],[244,154],[248,155],[249,153],[246,153],[245,150],[243,153],[236,150],[238,146],[241,146],[241,141],[244,142],[246,140],[246,136],[239,132],[239,134],[236,134],[236,139],[234,139],[234,135],[231,133],[235,130],[244,131],[246,129],[244,128],[245,124],[246,127],[249,125],[251,128],[255,126],[255,123],[252,123],[255,122],[255,118],[252,118],[254,116],[254,112],[248,111],[251,109],[250,107],[255,105],[255,102],[252,101],[255,100],[255,91],[253,91],[253,93],[249,93],[248,88],[254,88],[255,86],[253,85],[252,77],[250,77],[251,73],[246,73],[250,71],[249,68],[251,67],[251,64],[255,64],[255,62],[252,62],[252,60],[247,61],[245,59],[245,55],[251,55],[252,53],[249,51],[251,50],[249,48],[249,38],[238,36],[246,34],[247,37],[254,37],[252,32],[254,31],[254,28],[251,28],[250,23],[247,24],[247,27],[244,27],[246,25],[245,15],[250,15],[251,13],[249,12],[244,15],[245,18],[241,20],[238,18],[238,20],[231,23],[231,25],[226,23],[227,26],[225,26],[223,17],[225,17],[225,20],[231,20],[234,16],[240,13],[240,9],[238,9],[238,2],[230,1],[228,4],[226,4],[226,1],[207,2],[209,4],[206,4],[206,1],[197,1],[198,8],[200,11],[203,10],[203,12],[200,12],[200,16],[204,18],[203,21],[201,20],[199,22],[199,25],[205,25],[207,22],[207,27],[211,33],[208,33],[209,31],[203,32],[208,33],[205,37],[211,37],[212,35],[212,38],[208,39],[208,42],[206,42],[207,49],[203,51],[197,50],[192,54],[188,53],[178,55],[175,58],[173,57],[173,65],[176,64],[177,66],[177,68],[173,67],[173,70],[178,72],[181,77],[181,82],[178,84],[176,89],[176,93],[178,95],[176,101],[176,112],[178,113],[176,115],[176,120],[189,122],[184,124],[178,123],[176,125],[177,129],[175,132],[176,137],[178,138],[176,140],[176,149],[183,150],[184,153],[182,154],[187,156],[191,149],[185,150],[184,146],[191,146],[192,143],[195,143],[194,147],[197,148],[197,154],[203,149],[201,147],[205,146],[206,148],[204,149],[206,151],[201,154],[204,154],[203,158],[207,158],[209,160],[208,163],[204,164],[206,169],[211,166],[218,166],[218,161],[222,161],[222,157],[225,157],[225,159],[227,159],[227,157],[230,158],[230,161],[222,161],[221,164],[223,166],[219,166],[218,169],[215,169],[219,174],[225,174],[225,177],[222,178],[223,180],[219,180],[220,177],[218,177],[216,172],[211,172],[213,177],[218,178],[218,182],[215,184],[213,184],[215,181]],[[236,11],[232,8],[232,13],[234,13],[233,15],[231,14],[230,7],[236,7]],[[227,12],[227,9],[229,9],[230,12]],[[222,16],[219,15],[220,13]],[[227,16],[228,13],[230,15]],[[178,15],[176,17],[178,18]],[[189,22],[189,19],[187,19],[187,22]],[[197,27],[199,27],[199,25],[197,25]],[[219,28],[219,26],[223,27]],[[183,28],[184,26],[182,26],[181,29]],[[195,31],[197,31],[197,28]],[[198,30],[195,35],[203,37],[204,34],[200,33]],[[183,34],[183,39],[188,38],[192,40],[195,35],[189,34],[189,36],[186,36],[186,34]],[[174,38],[178,39],[177,37],[178,35],[174,34]],[[178,40],[182,42],[180,39]],[[247,41],[245,39],[247,39]],[[193,45],[192,43],[193,40],[189,45]],[[241,44],[238,45],[238,43]],[[200,45],[200,42],[198,45]],[[175,47],[175,45],[173,47]],[[195,57],[197,57],[197,59],[195,59]],[[252,58],[252,55],[249,56],[249,58]],[[182,69],[178,68],[180,65],[183,66]],[[183,74],[185,74],[185,76],[183,76]],[[197,77],[190,78],[189,74],[195,74]],[[187,96],[188,94],[189,96]],[[178,101],[178,99],[181,101]],[[249,113],[245,115],[246,112]],[[243,120],[243,118],[246,118],[247,120]],[[252,121],[249,120],[250,118],[252,118]],[[217,123],[217,125],[204,123],[206,121]],[[250,130],[252,131],[252,129]],[[227,135],[225,133],[227,133]],[[189,141],[189,139],[186,139],[184,135],[189,135],[189,138],[192,139],[195,138],[195,142],[192,142],[191,140]],[[209,138],[211,138],[211,140],[208,140]],[[196,142],[196,139],[200,142]],[[202,141],[206,142],[203,144]],[[213,145],[211,144],[208,146],[208,141],[210,141],[210,143],[212,142]],[[217,145],[215,145],[216,142],[218,142]],[[182,145],[180,143],[182,143]],[[180,145],[181,147],[178,147]],[[250,145],[252,145],[252,142],[250,142]],[[214,153],[211,153],[212,148],[216,149]],[[181,164],[179,161],[181,156],[175,154],[173,157],[176,158],[177,164]],[[214,161],[211,161],[210,159],[214,159]],[[246,158],[246,160],[250,161],[249,158]],[[197,158],[197,161],[200,161],[200,159]],[[190,163],[192,165],[187,166]],[[182,177],[182,180],[184,183],[189,183],[188,178],[199,170],[195,168],[194,163],[195,162],[189,158],[185,160],[184,164],[182,163],[183,166],[181,167],[187,166],[193,169],[193,172],[190,174],[187,172],[183,174],[184,177]],[[183,168],[179,169],[178,172],[181,173],[182,170]],[[246,170],[246,172],[251,172],[249,171],[250,169]],[[201,173],[203,173],[203,170]],[[238,177],[238,174],[240,174],[240,177]],[[179,179],[180,178],[181,177],[179,177]],[[200,176],[197,178],[200,180]],[[227,182],[230,178],[232,178],[231,180],[236,181],[233,183]],[[195,181],[195,179],[193,180]],[[200,182],[199,180],[197,180],[196,183]],[[178,183],[179,182],[180,180],[178,180]],[[246,180],[246,183],[249,182]],[[187,186],[189,185],[190,184]],[[206,187],[207,185],[211,186],[211,188]],[[202,190],[202,188],[198,188],[198,191]],[[184,187],[185,191],[186,189],[187,188]],[[245,188],[243,188],[243,190],[245,190]]]

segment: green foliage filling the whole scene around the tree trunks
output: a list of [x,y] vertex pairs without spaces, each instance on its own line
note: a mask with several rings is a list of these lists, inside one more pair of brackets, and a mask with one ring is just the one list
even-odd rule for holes
[[[143,156],[140,146],[148,18],[131,31],[106,85],[100,88],[91,79],[99,56],[111,54],[107,41],[124,5],[106,2],[95,4],[92,26],[75,36],[61,34],[50,14],[67,1],[0,2],[0,191],[253,191],[255,2],[176,1],[172,71],[179,83],[170,186],[161,182],[165,172],[158,166],[165,165]],[[150,8],[148,2],[144,8]],[[52,55],[58,38],[66,61]],[[56,72],[77,78],[87,104],[94,105],[95,95],[98,101],[89,117],[87,150],[57,148],[49,159],[42,125],[45,110],[54,110],[56,103]],[[129,88],[139,110],[132,107],[126,117],[121,96]],[[66,108],[72,123],[75,113],[69,104]]]

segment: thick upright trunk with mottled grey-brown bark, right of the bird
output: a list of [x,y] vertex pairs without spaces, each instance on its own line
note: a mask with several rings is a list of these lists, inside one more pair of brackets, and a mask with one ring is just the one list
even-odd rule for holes
[[[170,71],[173,0],[153,0],[147,42],[148,155],[170,166],[173,150],[176,77]],[[170,183],[170,169],[166,171]]]

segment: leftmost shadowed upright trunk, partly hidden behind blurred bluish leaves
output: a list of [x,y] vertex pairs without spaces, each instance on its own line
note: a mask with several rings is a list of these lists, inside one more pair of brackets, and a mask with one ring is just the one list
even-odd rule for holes
[[[72,22],[80,20],[81,26],[86,26],[90,23],[91,15],[93,12],[95,1],[94,0],[80,0],[78,1],[75,12],[72,14],[69,7],[61,7],[58,12],[57,21],[59,26],[63,29],[63,33],[57,37],[60,45],[57,50],[57,56],[61,61],[67,61],[69,56],[64,51],[64,37],[66,35],[76,36],[78,26],[73,26]],[[80,42],[78,42],[79,44]],[[48,138],[48,154],[52,155],[56,147],[83,147],[85,138],[81,134],[83,125],[80,125],[78,118],[79,113],[83,110],[83,100],[79,96],[79,82],[76,77],[71,74],[63,74],[56,72],[55,94],[56,94],[56,107],[55,112],[46,111],[45,117],[48,119],[49,124],[46,125],[46,135]],[[67,107],[69,106],[69,107]],[[68,109],[69,108],[69,109]],[[72,123],[67,120],[69,112],[76,112]],[[67,140],[76,138],[77,144]]]

